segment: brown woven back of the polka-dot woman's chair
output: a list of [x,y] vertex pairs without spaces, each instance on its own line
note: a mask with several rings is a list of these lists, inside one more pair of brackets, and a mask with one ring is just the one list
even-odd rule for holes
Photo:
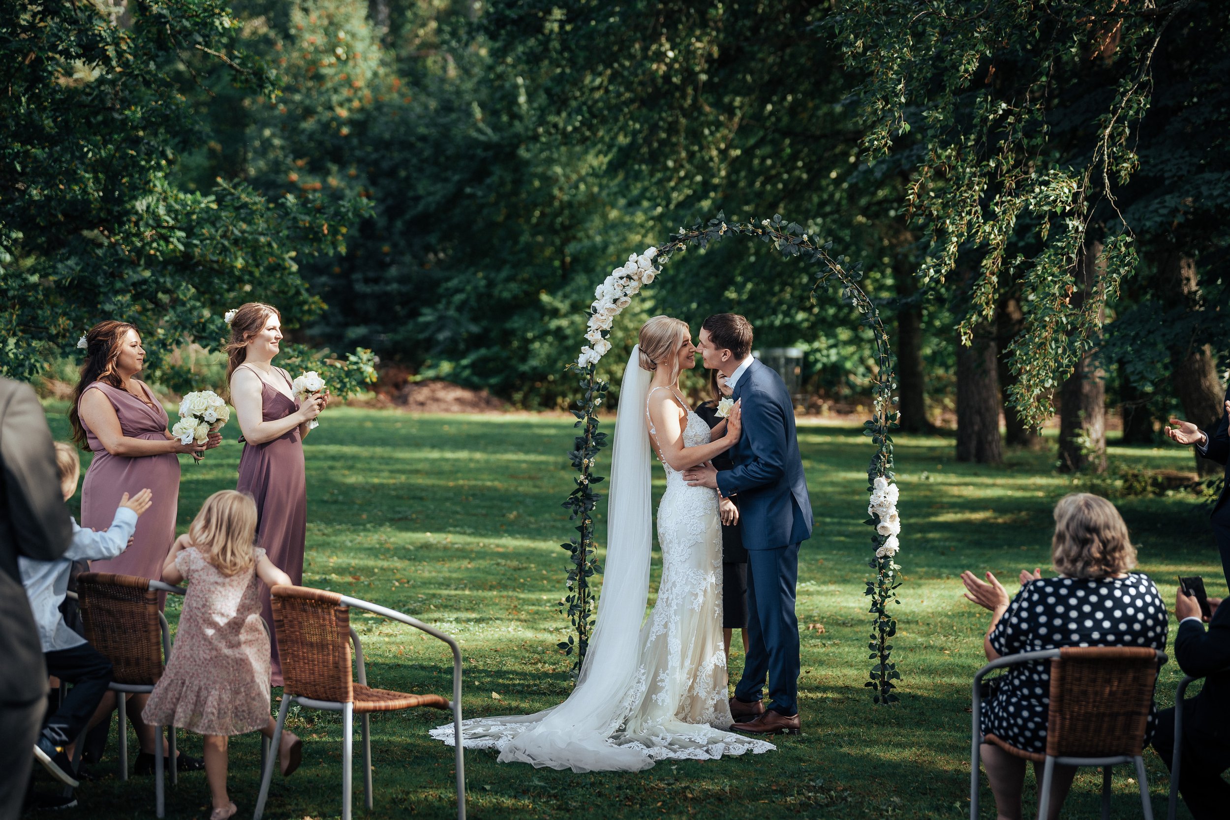
[[1157,681],[1146,647],[1065,647],[1050,661],[1047,754],[1140,755]]

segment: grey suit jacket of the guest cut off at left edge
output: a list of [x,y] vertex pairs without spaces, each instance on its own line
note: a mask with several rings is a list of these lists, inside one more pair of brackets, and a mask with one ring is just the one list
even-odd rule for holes
[[17,556],[54,561],[73,537],[52,432],[30,385],[0,379],[0,704],[47,693],[43,650]]

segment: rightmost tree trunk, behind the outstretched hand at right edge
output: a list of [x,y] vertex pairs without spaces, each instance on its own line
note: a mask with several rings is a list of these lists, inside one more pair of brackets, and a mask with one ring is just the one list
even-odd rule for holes
[[[1176,295],[1189,311],[1203,310],[1196,259],[1178,252],[1167,253],[1160,259],[1159,274],[1162,293]],[[1209,345],[1188,341],[1175,347],[1170,352],[1170,365],[1175,395],[1183,404],[1187,420],[1204,429],[1221,418],[1224,390]],[[1219,476],[1224,467],[1196,456],[1196,470],[1200,476]]]

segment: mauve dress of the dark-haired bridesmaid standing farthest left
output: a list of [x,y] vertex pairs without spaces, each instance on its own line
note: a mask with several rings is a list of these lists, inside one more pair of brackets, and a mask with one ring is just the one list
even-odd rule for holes
[[[98,390],[111,401],[119,417],[119,428],[132,439],[167,440],[167,416],[149,387],[141,387],[154,407],[127,390],[96,381],[82,391]],[[80,411],[79,411],[80,412]],[[116,518],[116,508],[124,493],[135,495],[149,487],[153,505],[137,520],[133,543],[108,561],[91,561],[90,569],[140,578],[162,578],[162,562],[175,541],[175,516],[180,505],[180,456],[166,452],[157,456],[113,456],[81,419],[86,444],[93,454],[81,484],[81,526],[106,530]]]

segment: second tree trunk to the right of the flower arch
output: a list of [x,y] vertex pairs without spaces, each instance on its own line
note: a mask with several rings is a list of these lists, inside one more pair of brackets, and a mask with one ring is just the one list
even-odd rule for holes
[[957,339],[957,461],[999,463],[1002,452],[995,337],[986,326],[978,331],[968,348]]

